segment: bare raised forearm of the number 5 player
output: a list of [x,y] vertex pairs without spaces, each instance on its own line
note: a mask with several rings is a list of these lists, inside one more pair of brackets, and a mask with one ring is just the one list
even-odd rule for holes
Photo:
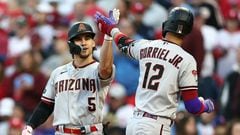
[[107,79],[111,76],[112,65],[113,65],[112,40],[109,38],[104,38],[104,42],[101,47],[99,66],[100,76],[102,79]]

